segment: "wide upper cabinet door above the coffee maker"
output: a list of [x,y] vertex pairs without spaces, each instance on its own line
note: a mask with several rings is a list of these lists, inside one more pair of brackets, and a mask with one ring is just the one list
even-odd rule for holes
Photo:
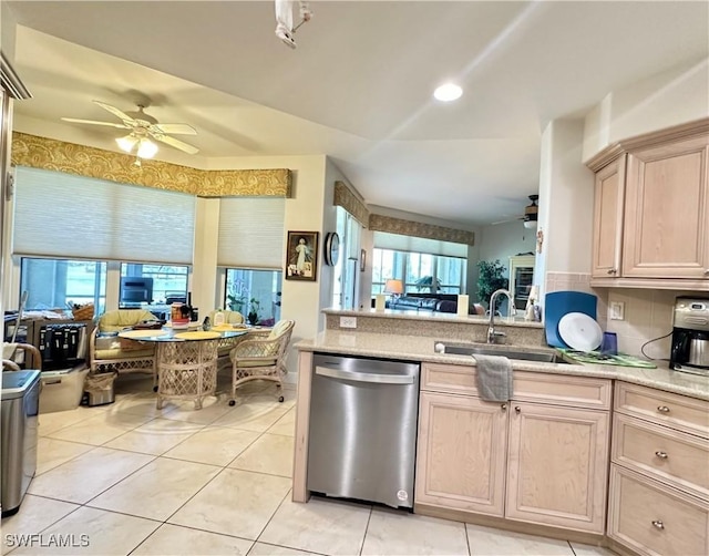
[[709,278],[707,137],[628,155],[623,276]]

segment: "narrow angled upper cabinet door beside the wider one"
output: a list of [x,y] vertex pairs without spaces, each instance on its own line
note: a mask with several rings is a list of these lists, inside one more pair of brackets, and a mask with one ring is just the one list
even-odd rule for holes
[[596,174],[590,268],[594,278],[616,278],[620,272],[625,165],[623,155]]

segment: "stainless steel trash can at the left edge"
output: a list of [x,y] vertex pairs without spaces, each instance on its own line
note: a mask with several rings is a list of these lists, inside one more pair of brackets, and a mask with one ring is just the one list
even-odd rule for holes
[[40,371],[2,373],[0,495],[2,517],[20,509],[37,470]]

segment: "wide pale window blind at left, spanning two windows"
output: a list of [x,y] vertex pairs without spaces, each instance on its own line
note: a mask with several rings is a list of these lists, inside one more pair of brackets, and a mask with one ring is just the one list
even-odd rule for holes
[[196,197],[18,167],[12,254],[191,265]]

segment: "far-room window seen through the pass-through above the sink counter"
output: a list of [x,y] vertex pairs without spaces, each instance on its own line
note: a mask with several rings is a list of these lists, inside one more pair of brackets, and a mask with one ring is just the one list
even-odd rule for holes
[[462,294],[466,271],[464,258],[374,248],[372,296],[384,292],[389,278],[403,280],[404,292]]

